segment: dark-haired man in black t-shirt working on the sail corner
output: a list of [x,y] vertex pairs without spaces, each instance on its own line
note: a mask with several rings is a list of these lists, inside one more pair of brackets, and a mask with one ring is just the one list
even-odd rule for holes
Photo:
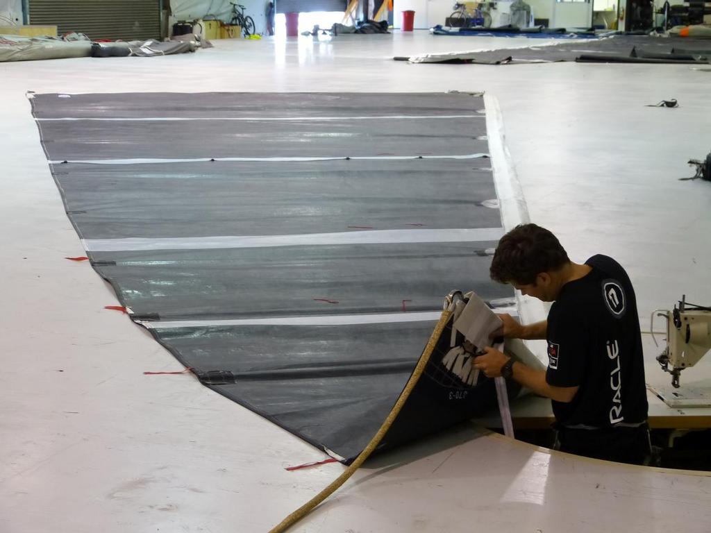
[[547,321],[535,324],[500,315],[503,336],[547,340],[548,368],[535,370],[494,348],[476,357],[474,367],[552,399],[557,449],[643,463],[650,446],[642,341],[624,269],[604,255],[571,262],[555,235],[526,224],[501,238],[491,277],[553,302]]

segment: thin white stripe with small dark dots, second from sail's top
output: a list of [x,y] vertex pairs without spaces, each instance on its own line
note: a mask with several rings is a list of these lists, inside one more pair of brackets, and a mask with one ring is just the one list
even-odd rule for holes
[[137,158],[137,159],[68,159],[64,161],[50,160],[52,165],[62,163],[90,163],[93,165],[143,165],[154,163],[202,163],[207,161],[251,161],[254,163],[271,163],[280,161],[346,161],[353,160],[369,160],[382,159],[391,161],[403,161],[407,159],[478,159],[488,157],[488,154],[464,154],[464,155],[449,155],[449,156],[343,156],[343,157],[197,157],[197,158]]

